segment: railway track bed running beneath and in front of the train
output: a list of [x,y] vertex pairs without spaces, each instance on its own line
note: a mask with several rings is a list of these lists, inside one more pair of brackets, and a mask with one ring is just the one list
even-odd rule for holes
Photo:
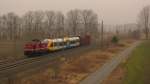
[[47,55],[42,55],[39,57],[25,58],[13,63],[0,63],[0,80],[4,77],[9,77],[10,75],[15,75],[19,72],[24,72],[35,67],[43,66],[47,63],[53,63],[58,60],[59,57],[70,58],[76,56],[78,53],[87,52],[88,50],[94,49],[96,46],[84,46],[77,47],[68,50],[62,50],[58,52],[53,52]]

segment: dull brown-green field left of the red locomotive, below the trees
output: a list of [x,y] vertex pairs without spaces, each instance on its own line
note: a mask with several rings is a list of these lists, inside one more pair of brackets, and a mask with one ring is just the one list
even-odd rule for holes
[[23,42],[0,41],[0,60],[17,59],[23,56]]

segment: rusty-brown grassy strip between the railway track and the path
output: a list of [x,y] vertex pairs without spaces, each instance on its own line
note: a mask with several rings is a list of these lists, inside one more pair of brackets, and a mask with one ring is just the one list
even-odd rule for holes
[[[25,77],[15,84],[78,84],[83,78],[96,71],[104,63],[116,56],[120,51],[132,44],[133,41],[126,41],[118,45],[104,49],[86,52],[78,58],[66,60],[59,66],[39,72],[38,74]],[[61,60],[65,60],[61,58]]]

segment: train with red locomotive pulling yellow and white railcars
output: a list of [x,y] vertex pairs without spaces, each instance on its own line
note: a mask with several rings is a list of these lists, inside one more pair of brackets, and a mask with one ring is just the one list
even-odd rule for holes
[[55,38],[55,39],[34,39],[24,45],[24,55],[34,56],[46,53],[52,53],[60,50],[71,49],[91,44],[89,35]]

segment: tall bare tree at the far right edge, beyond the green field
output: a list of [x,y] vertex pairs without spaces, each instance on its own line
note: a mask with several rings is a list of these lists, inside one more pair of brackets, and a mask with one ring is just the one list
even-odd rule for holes
[[150,6],[146,6],[142,9],[139,15],[139,22],[138,24],[144,28],[144,33],[146,39],[149,38],[149,19],[150,19]]

